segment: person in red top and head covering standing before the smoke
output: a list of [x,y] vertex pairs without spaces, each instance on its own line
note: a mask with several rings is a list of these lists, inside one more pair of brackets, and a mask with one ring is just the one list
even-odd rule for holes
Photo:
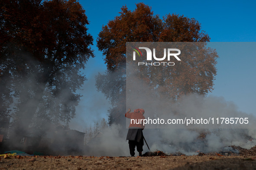
[[145,117],[143,114],[145,113],[144,109],[136,109],[134,112],[131,113],[131,109],[128,110],[128,112],[125,113],[125,116],[130,121],[129,130],[126,136],[126,140],[129,140],[129,149],[130,154],[132,157],[135,155],[135,147],[137,148],[137,151],[139,152],[139,156],[142,156],[143,151],[143,129],[145,128],[145,125],[143,125],[143,121]]

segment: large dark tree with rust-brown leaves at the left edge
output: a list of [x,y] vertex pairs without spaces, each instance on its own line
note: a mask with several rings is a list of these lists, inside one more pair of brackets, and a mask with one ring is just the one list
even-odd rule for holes
[[[88,20],[76,0],[1,0],[1,116],[12,116],[15,133],[75,116],[89,57]],[[10,115],[8,106],[16,100]]]

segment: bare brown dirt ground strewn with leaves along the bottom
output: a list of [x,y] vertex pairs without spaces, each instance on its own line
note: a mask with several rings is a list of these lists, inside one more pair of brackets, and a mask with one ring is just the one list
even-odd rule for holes
[[87,156],[13,156],[0,157],[0,169],[170,169],[170,170],[253,170],[253,156],[154,156],[154,157],[87,157]]

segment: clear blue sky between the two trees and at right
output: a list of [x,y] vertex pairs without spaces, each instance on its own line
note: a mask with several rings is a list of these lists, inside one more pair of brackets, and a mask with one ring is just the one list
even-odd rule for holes
[[[97,93],[94,87],[94,76],[97,72],[103,73],[106,69],[102,53],[97,50],[96,39],[102,25],[106,25],[109,20],[119,15],[122,6],[126,5],[128,9],[134,10],[136,3],[144,2],[151,6],[154,14],[159,14],[160,18],[169,13],[194,18],[201,23],[202,30],[210,36],[211,42],[256,41],[255,0],[80,0],[79,2],[86,10],[90,22],[87,27],[88,32],[94,37],[93,49],[96,57],[87,63],[85,74],[88,80],[84,83],[84,91],[81,91],[84,97],[77,107],[76,118],[71,122],[71,127],[78,130],[90,122],[93,124],[103,117],[107,118],[107,107],[110,105],[104,95]],[[239,44],[233,45],[235,46],[231,45],[229,51],[217,50],[220,58],[214,82],[215,89],[211,95],[223,96],[225,100],[237,104],[239,110],[256,114],[256,43],[250,44],[254,50],[252,49],[246,56],[243,55]],[[95,103],[97,105],[94,106]]]

